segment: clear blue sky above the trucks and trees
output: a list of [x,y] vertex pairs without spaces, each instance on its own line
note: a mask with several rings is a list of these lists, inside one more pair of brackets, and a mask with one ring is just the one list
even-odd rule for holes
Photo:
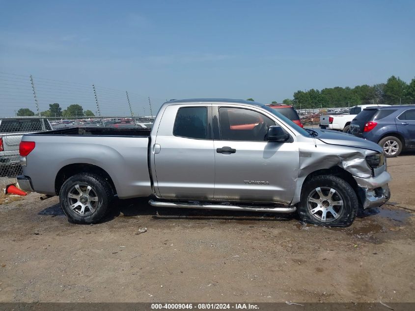
[[[415,76],[415,1],[0,1],[0,71],[155,98]],[[3,104],[1,104],[3,105]]]

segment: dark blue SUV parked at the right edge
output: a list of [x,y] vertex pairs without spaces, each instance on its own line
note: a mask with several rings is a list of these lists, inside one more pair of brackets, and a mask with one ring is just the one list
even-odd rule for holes
[[404,148],[415,148],[415,106],[366,108],[352,120],[350,133],[378,143],[388,158],[396,157]]

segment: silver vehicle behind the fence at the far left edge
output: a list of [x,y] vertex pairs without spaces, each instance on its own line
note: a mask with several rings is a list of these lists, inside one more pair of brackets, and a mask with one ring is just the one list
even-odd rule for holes
[[19,144],[23,134],[52,130],[51,124],[41,117],[14,117],[0,119],[0,174],[20,169]]

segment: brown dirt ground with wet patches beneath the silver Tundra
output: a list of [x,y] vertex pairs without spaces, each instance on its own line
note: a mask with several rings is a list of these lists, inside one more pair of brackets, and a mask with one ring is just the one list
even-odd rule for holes
[[415,217],[402,208],[415,211],[415,152],[388,159],[388,170],[390,205],[341,229],[292,216],[157,213],[144,199],[82,226],[57,198],[3,198],[0,302],[415,302]]

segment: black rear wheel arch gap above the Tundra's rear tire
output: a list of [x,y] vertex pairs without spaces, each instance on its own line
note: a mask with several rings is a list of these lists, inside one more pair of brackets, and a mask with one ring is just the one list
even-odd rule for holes
[[110,183],[114,194],[117,193],[114,182],[112,181],[110,174],[106,170],[93,164],[74,163],[74,164],[68,164],[64,166],[57,172],[56,177],[55,177],[55,194],[59,195],[59,192],[60,192],[60,189],[62,188],[63,183],[68,178],[79,173],[92,173],[92,174],[96,174],[96,175],[104,177]]

